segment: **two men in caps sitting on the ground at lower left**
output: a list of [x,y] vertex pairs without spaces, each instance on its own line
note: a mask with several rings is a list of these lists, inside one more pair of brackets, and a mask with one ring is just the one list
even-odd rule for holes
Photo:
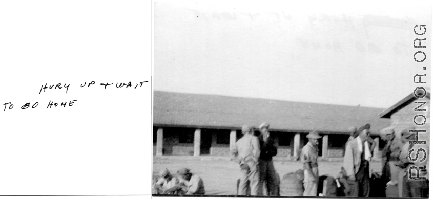
[[160,179],[154,182],[152,194],[203,195],[205,186],[203,180],[190,169],[183,168],[173,175],[169,170],[160,171]]

